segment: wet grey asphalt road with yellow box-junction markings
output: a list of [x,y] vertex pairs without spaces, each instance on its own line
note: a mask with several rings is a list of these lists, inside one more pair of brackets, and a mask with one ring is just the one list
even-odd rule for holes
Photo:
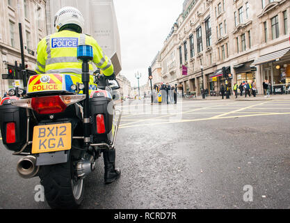
[[[290,97],[118,108],[122,176],[104,185],[98,160],[81,208],[290,208]],[[17,176],[18,160],[0,144],[0,208],[49,208],[34,199],[39,178]]]

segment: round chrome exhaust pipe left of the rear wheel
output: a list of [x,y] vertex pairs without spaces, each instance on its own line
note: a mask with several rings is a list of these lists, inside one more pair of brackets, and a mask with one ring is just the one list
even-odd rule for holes
[[17,162],[17,172],[22,178],[32,178],[38,174],[39,167],[36,166],[36,158],[28,155]]

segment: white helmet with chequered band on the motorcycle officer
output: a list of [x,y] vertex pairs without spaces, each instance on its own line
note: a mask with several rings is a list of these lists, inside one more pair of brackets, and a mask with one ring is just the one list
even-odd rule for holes
[[83,31],[85,20],[78,9],[71,6],[66,6],[58,10],[54,16],[54,27],[56,28],[56,32],[58,32],[61,27],[66,24],[75,24],[81,28],[81,31]]

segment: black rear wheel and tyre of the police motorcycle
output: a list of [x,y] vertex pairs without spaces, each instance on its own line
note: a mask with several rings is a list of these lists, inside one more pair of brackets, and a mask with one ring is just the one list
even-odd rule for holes
[[42,166],[40,183],[51,208],[77,208],[83,200],[83,179],[74,176],[72,155],[66,163]]

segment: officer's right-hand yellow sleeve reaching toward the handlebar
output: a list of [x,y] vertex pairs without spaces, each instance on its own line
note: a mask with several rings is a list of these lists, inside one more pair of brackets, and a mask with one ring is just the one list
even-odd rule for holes
[[[90,38],[90,37],[89,37]],[[101,69],[105,76],[113,75],[113,64],[111,60],[104,54],[101,47],[94,38],[90,38],[90,42],[92,45],[92,50],[94,53],[94,59],[92,60],[97,68]]]

